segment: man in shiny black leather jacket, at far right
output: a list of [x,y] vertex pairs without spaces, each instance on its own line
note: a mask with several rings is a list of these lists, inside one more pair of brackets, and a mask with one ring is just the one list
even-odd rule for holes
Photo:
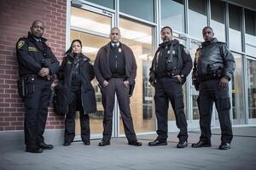
[[215,102],[221,127],[220,150],[230,149],[233,138],[230,122],[229,84],[235,70],[235,60],[224,42],[218,42],[212,28],[202,30],[205,42],[195,54],[192,79],[199,89],[197,99],[200,113],[201,137],[194,148],[211,147],[212,105]]

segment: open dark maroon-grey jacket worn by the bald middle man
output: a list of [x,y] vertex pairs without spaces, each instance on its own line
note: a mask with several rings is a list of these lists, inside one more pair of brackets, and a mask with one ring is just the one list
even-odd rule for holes
[[[96,60],[94,62],[94,71],[97,81],[102,84],[104,80],[111,78],[112,73],[109,67],[109,49],[111,43],[103,46],[96,54]],[[120,42],[122,53],[125,56],[125,77],[130,85],[135,84],[135,78],[137,76],[137,64],[132,53],[131,48]]]

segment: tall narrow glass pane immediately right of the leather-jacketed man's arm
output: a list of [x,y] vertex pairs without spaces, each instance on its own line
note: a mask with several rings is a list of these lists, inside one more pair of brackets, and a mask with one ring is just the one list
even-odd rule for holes
[[232,53],[236,61],[236,70],[232,78],[232,107],[233,107],[233,124],[245,124],[245,108],[243,94],[243,72],[242,72],[242,55]]

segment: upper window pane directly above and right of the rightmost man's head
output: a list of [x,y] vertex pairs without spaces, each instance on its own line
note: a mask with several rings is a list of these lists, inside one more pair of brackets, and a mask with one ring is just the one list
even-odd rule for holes
[[218,41],[225,42],[224,3],[211,1],[211,27]]

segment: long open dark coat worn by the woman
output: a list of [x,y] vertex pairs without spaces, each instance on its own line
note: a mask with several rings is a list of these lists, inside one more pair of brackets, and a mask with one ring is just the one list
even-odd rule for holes
[[[90,59],[84,54],[80,54],[82,61],[80,61],[80,72],[82,77],[81,85],[81,101],[85,114],[96,112],[96,95],[94,88],[90,81],[94,79],[93,65],[90,64]],[[69,96],[71,91],[71,82],[72,82],[72,70],[74,66],[73,54],[67,54],[61,63],[60,71],[57,73],[59,83],[57,89],[59,90],[60,98],[58,101],[58,107],[61,108],[62,113],[67,114],[68,105],[69,105]]]

